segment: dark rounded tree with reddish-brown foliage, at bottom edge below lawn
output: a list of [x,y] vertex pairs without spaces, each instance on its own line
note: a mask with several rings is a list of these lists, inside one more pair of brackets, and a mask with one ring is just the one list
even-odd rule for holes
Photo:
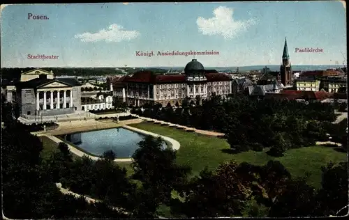
[[205,168],[182,192],[184,203],[177,207],[187,217],[236,217],[244,210],[251,189],[239,178],[236,162],[223,163],[215,172]]

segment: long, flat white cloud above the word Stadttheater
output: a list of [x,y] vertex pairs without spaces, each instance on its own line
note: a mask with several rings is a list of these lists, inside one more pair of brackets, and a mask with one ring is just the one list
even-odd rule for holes
[[120,25],[112,24],[107,29],[102,29],[97,33],[81,33],[75,35],[75,38],[79,38],[82,42],[97,42],[101,40],[105,40],[105,42],[121,42],[140,36],[138,31],[126,31],[123,29]]

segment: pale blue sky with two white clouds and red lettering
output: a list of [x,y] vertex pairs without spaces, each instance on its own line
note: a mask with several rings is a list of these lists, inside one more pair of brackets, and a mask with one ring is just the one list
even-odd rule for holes
[[[158,56],[168,51],[218,52],[195,56],[210,67],[279,65],[285,38],[292,65],[342,65],[347,56],[340,1],[17,4],[0,19],[2,68],[178,67],[194,58]],[[323,52],[295,52],[307,47]]]

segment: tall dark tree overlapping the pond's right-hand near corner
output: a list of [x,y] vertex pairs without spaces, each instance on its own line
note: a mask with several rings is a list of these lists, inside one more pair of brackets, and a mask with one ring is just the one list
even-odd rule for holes
[[[138,145],[140,147],[133,154],[132,178],[142,182],[143,192],[138,196],[142,196],[144,203],[152,204],[153,210],[147,210],[149,217],[149,213],[155,214],[160,203],[170,203],[172,190],[186,182],[191,168],[177,165],[176,152],[171,148],[163,149],[161,138],[146,136]],[[141,204],[135,205],[138,207],[136,210],[144,208]]]

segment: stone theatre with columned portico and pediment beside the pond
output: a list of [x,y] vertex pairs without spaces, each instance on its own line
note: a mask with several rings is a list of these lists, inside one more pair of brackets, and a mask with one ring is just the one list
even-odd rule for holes
[[17,102],[26,118],[55,116],[81,110],[80,84],[75,78],[55,79],[53,72],[23,72],[19,81],[6,86],[6,101]]

